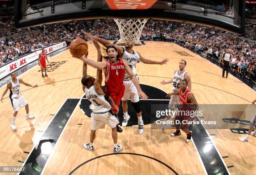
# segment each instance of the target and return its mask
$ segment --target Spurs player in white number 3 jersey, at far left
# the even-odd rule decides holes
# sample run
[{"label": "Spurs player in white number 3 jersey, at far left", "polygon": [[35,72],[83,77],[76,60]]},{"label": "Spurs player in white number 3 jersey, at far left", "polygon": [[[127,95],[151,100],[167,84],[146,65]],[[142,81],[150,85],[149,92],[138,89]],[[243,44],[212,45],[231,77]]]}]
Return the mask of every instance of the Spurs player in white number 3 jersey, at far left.
[{"label": "Spurs player in white number 3 jersey, at far left", "polygon": [[16,73],[12,72],[11,74],[12,79],[7,83],[7,87],[5,89],[5,91],[3,92],[3,95],[1,97],[1,102],[3,102],[3,97],[5,96],[5,94],[7,93],[8,90],[10,90],[10,100],[14,109],[14,113],[13,113],[13,119],[12,119],[12,123],[11,123],[11,128],[13,131],[17,131],[16,127],[15,127],[15,119],[17,117],[18,114],[18,110],[19,107],[24,107],[26,109],[26,119],[33,119],[34,117],[32,115],[29,115],[29,107],[28,107],[28,102],[25,100],[25,98],[20,95],[20,83],[22,83],[23,85],[26,86],[30,86],[30,87],[38,87],[38,85],[31,85],[27,82],[24,82],[22,79],[18,79],[16,78]]}]

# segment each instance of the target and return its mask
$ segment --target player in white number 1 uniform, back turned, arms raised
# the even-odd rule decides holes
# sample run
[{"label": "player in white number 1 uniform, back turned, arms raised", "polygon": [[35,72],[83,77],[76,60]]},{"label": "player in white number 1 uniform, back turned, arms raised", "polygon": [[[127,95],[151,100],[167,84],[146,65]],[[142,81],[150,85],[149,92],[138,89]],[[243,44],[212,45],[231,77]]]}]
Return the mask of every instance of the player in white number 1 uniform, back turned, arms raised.
[{"label": "player in white number 1 uniform, back turned, arms raised", "polygon": [[[97,62],[102,61],[102,56],[100,52],[100,45],[96,40],[93,41],[95,47],[97,48]],[[88,53],[87,53],[88,55]],[[85,57],[87,57],[85,55]],[[83,63],[83,77],[82,77],[82,88],[88,100],[92,103],[90,105],[91,113],[91,133],[90,133],[90,143],[84,144],[84,148],[90,151],[94,151],[93,141],[96,137],[96,130],[104,128],[107,124],[112,129],[112,138],[114,141],[114,153],[118,153],[122,150],[122,145],[117,144],[118,134],[117,125],[119,123],[118,118],[113,115],[110,103],[105,100],[104,92],[102,90],[102,70],[97,70],[97,77],[91,77],[87,75],[87,64]],[[112,100],[111,97],[109,100]],[[113,102],[113,101],[111,101]],[[113,102],[114,103],[114,102]]]}]

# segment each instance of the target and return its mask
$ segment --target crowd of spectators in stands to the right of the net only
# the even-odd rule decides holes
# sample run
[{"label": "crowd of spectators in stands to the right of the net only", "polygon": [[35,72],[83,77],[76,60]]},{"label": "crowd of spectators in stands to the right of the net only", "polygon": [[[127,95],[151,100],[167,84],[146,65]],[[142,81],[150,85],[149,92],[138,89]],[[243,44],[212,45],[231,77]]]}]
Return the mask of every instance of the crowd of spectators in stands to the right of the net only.
[{"label": "crowd of spectators in stands to the right of the net only", "polygon": [[[203,57],[210,57],[222,63],[223,53],[230,50],[231,71],[248,79],[255,80],[256,43],[236,35],[225,35],[221,30],[200,25],[151,20],[143,29],[142,40],[175,42]],[[157,29],[157,30],[154,30]],[[256,40],[255,23],[246,21],[245,30],[252,31],[250,39]]]}]

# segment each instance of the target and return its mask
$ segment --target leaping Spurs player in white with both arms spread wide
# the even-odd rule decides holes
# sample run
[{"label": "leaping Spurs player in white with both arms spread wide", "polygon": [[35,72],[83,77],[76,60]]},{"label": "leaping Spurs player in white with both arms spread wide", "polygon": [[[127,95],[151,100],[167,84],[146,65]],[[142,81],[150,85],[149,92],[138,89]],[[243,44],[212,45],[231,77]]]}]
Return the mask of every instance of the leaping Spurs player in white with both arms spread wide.
[{"label": "leaping Spurs player in white with both arms spread wide", "polygon": [[[86,37],[88,37],[90,40],[97,40],[100,42],[102,45],[105,47],[107,45],[112,45],[111,42],[108,40],[104,40],[100,37],[92,36],[86,32],[83,32]],[[121,47],[119,45],[115,45],[115,47],[118,50],[118,55],[125,59],[128,62],[128,65],[131,67],[132,72],[134,75],[136,75],[136,64],[137,62],[143,62],[145,64],[159,64],[163,65],[168,62],[168,59],[164,59],[161,61],[154,61],[154,60],[149,60],[141,56],[139,52],[136,52],[133,50],[134,42],[132,40],[126,40],[125,41],[125,47]],[[136,75],[138,78],[138,76]],[[138,133],[142,134],[143,133],[143,120],[142,120],[142,115],[141,115],[141,107],[139,104],[139,96],[138,96],[138,91],[129,78],[127,74],[125,74],[124,78],[124,85],[125,85],[125,92],[122,98],[122,106],[123,106],[123,123],[122,126],[125,127],[128,124],[128,120],[130,119],[130,116],[128,115],[128,105],[127,105],[127,100],[129,97],[131,97],[131,102],[133,105],[133,108],[135,109],[138,117]]]}]

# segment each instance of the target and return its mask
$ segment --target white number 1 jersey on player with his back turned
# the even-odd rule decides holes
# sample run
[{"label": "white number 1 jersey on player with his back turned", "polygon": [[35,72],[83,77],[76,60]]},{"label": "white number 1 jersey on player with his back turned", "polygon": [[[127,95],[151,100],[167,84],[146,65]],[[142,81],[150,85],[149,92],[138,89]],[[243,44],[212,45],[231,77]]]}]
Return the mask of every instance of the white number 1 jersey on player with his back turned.
[{"label": "white number 1 jersey on player with his back turned", "polygon": [[89,89],[85,87],[84,91],[87,99],[92,103],[90,105],[90,109],[93,113],[102,114],[108,112],[111,109],[109,102],[105,100],[104,94],[98,95],[94,85],[92,85]]}]

